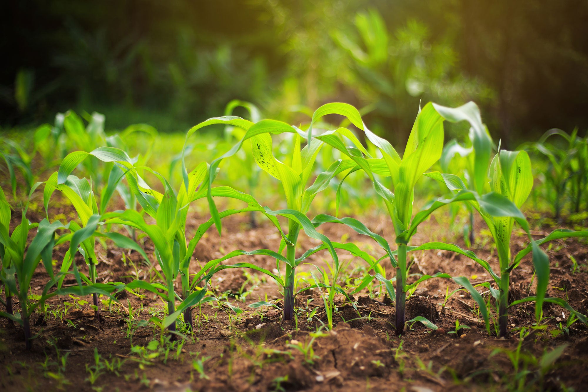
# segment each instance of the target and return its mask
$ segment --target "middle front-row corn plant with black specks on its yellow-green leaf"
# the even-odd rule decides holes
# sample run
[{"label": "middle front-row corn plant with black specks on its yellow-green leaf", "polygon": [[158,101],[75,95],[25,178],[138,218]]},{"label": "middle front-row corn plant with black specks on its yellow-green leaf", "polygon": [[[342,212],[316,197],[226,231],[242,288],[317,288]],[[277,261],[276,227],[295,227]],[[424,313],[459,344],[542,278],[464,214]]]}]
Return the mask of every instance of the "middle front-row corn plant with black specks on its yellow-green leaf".
[{"label": "middle front-row corn plant with black specks on its yellow-green leaf", "polygon": [[[337,108],[333,109],[331,107],[329,109],[328,107],[325,110],[325,108],[322,107],[315,112],[313,118],[318,119],[323,115],[330,113],[345,115],[345,111],[340,112],[340,110],[338,111]],[[305,260],[305,258],[308,257],[310,254],[318,251],[318,249],[324,245],[325,247],[323,247],[322,249],[327,248],[329,250],[333,258],[333,263],[335,264],[335,270],[338,270],[339,259],[336,254],[335,248],[342,248],[352,253],[355,252],[356,247],[352,247],[352,244],[338,244],[335,242],[331,242],[329,238],[327,238],[325,235],[317,232],[312,222],[310,222],[310,220],[305,215],[305,213],[308,212],[310,204],[315,198],[315,195],[318,194],[318,192],[324,190],[328,186],[329,181],[333,177],[335,177],[335,175],[338,175],[343,171],[347,171],[353,166],[355,166],[355,162],[353,162],[352,160],[336,160],[335,162],[329,165],[326,171],[323,171],[320,174],[318,174],[315,181],[311,185],[308,185],[310,175],[312,174],[313,165],[316,160],[316,156],[318,155],[320,148],[322,148],[322,146],[325,144],[324,142],[315,139],[313,141],[309,141],[305,147],[301,148],[302,138],[306,137],[307,134],[304,134],[300,129],[296,127],[292,127],[288,124],[285,124],[284,122],[270,119],[264,119],[253,124],[253,122],[233,116],[211,118],[205,122],[202,122],[199,125],[196,125],[196,127],[193,127],[186,135],[186,141],[193,134],[193,132],[197,131],[202,127],[205,127],[206,125],[212,124],[230,125],[233,127],[242,128],[245,131],[243,138],[240,139],[238,144],[234,145],[233,148],[231,148],[228,152],[214,160],[211,163],[211,166],[209,167],[207,197],[211,209],[212,220],[218,228],[219,233],[221,227],[220,215],[218,210],[216,209],[216,204],[212,199],[212,181],[216,177],[216,170],[220,162],[224,158],[232,157],[232,155],[235,155],[240,150],[240,148],[242,148],[243,144],[246,141],[250,141],[252,145],[253,158],[255,159],[256,163],[259,165],[260,168],[262,168],[262,170],[268,172],[270,175],[272,175],[272,177],[276,178],[282,183],[282,187],[285,193],[285,201],[287,205],[287,208],[285,210],[272,211],[269,208],[264,207],[262,211],[265,211],[268,215],[281,215],[282,217],[286,217],[288,219],[288,235],[285,238],[283,237],[283,241],[280,244],[278,252],[272,250],[256,250],[250,252],[236,250],[229,253],[225,257],[219,259],[218,263],[220,263],[220,261],[227,260],[228,258],[243,254],[265,254],[275,257],[278,263],[278,271],[279,263],[284,263],[285,276],[283,279],[282,277],[273,274],[270,271],[265,270],[263,268],[256,267],[255,269],[270,275],[280,285],[282,285],[282,287],[284,288],[283,318],[284,320],[292,320],[292,318],[294,317],[295,269],[299,265],[299,263],[301,263],[302,260]],[[272,151],[273,144],[271,135],[278,135],[283,133],[294,134],[292,157],[290,158],[289,163],[283,163],[276,159]],[[339,128],[336,131],[330,131],[329,134],[336,138],[339,141],[340,145],[342,145],[341,138],[343,136],[351,137],[353,138],[358,148],[363,149],[360,142],[355,138],[355,136],[353,136],[353,134],[348,129]],[[310,133],[308,135],[310,135]],[[183,164],[183,175],[186,178],[187,172],[185,170],[185,164]],[[309,237],[322,241],[323,245],[313,248],[312,250],[306,251],[302,257],[296,258],[296,246],[298,244],[298,235],[300,233],[300,230],[304,230],[306,235],[309,235]],[[372,232],[369,233],[373,234]],[[282,255],[283,250],[286,251],[285,256]],[[228,268],[226,266],[223,267]]]}]

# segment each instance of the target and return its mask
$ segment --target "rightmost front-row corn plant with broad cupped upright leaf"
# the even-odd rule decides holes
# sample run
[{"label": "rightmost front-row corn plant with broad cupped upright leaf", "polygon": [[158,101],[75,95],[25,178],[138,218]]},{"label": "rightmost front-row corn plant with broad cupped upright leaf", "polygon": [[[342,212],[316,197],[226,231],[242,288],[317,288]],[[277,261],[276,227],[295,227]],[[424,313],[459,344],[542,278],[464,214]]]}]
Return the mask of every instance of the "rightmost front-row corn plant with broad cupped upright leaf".
[{"label": "rightmost front-row corn plant with broad cupped upright leaf", "polygon": [[[465,117],[458,115],[458,109],[445,108],[436,106],[437,110],[450,121],[466,120],[470,121],[472,127],[480,127],[480,124],[476,124],[472,121],[474,118],[479,117]],[[477,108],[476,108],[477,111]],[[426,250],[426,249],[439,249],[454,251],[476,261],[482,267],[484,267],[492,276],[495,281],[498,290],[490,287],[490,284],[486,283],[489,287],[490,292],[496,298],[497,303],[497,318],[498,318],[498,331],[501,337],[507,333],[507,308],[508,293],[510,284],[510,273],[516,268],[522,258],[531,253],[533,254],[533,265],[537,277],[537,289],[536,295],[533,297],[524,298],[524,300],[517,301],[535,301],[536,302],[536,319],[537,322],[542,317],[542,305],[543,301],[552,303],[558,303],[566,308],[569,305],[561,300],[560,298],[544,298],[547,290],[547,284],[549,283],[549,259],[547,255],[543,253],[539,245],[554,240],[556,238],[567,238],[567,237],[586,237],[588,231],[572,231],[572,230],[555,230],[547,237],[541,238],[540,240],[533,240],[529,230],[529,224],[526,218],[520,212],[519,208],[529,197],[530,191],[533,187],[533,175],[531,171],[531,162],[529,155],[525,151],[499,151],[493,158],[490,164],[490,174],[483,175],[480,171],[479,175],[483,181],[489,181],[491,192],[480,196],[473,190],[467,190],[466,185],[460,180],[459,177],[452,174],[440,174],[439,172],[433,172],[427,174],[429,177],[435,178],[437,181],[443,182],[447,187],[456,192],[453,199],[461,199],[469,203],[474,208],[483,220],[486,222],[492,237],[494,239],[497,254],[499,258],[499,273],[495,273],[490,267],[489,263],[480,260],[472,251],[465,251],[454,244],[443,244],[442,242],[428,242],[410,250]],[[462,198],[460,195],[470,195],[469,197]],[[436,201],[430,208],[435,207],[435,204],[443,204],[445,201]],[[513,231],[513,225],[520,225],[520,227],[526,232],[529,237],[529,245],[524,248],[519,254],[513,257],[510,251],[510,237]],[[513,303],[513,304],[516,304]],[[480,304],[480,310],[482,311],[483,317],[486,321],[486,327],[489,328],[488,313],[485,304]],[[513,304],[510,304],[511,306]],[[570,310],[573,311],[573,310]],[[573,311],[576,313],[575,311]],[[584,321],[582,315],[578,316],[580,320]],[[584,321],[585,322],[585,321]]]}]

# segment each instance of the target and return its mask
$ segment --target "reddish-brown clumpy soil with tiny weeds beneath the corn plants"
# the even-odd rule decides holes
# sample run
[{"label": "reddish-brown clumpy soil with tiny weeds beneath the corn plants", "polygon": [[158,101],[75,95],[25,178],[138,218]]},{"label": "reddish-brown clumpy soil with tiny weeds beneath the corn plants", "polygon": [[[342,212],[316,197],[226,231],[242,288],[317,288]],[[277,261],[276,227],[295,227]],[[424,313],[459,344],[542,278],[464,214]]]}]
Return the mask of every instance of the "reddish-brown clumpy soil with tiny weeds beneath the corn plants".
[{"label": "reddish-brown clumpy soil with tiny weeds beneath the corn plants", "polygon": [[[71,211],[65,208],[58,213],[68,216]],[[31,221],[42,217],[35,211],[29,214]],[[13,215],[14,224],[19,219],[18,214]],[[189,231],[193,232],[206,219],[191,218]],[[392,228],[386,219],[364,217],[362,221],[392,243]],[[193,272],[198,271],[199,265],[234,249],[278,250],[280,237],[275,227],[261,219],[258,222],[258,227],[251,228],[245,215],[226,218],[222,237],[211,228],[196,247]],[[412,243],[449,241],[466,248],[462,238],[442,227],[446,227],[446,222],[432,218],[419,228]],[[536,229],[533,234],[537,238],[552,230]],[[368,237],[342,225],[325,224],[319,230],[333,241],[353,241],[375,257],[383,255]],[[492,241],[482,226],[476,232],[478,237],[472,250],[497,271]],[[514,252],[526,245],[524,236],[518,233],[513,234],[512,241]],[[145,238],[139,238],[139,242],[153,257],[151,242]],[[299,254],[316,245],[318,242],[301,235]],[[586,241],[557,240],[544,248],[551,265],[547,295],[565,298],[574,309],[588,313]],[[65,251],[65,246],[57,248],[54,259],[62,260]],[[96,253],[101,261],[101,282],[156,280],[159,267],[146,265],[135,252],[97,241]],[[437,272],[463,275],[474,284],[491,279],[480,265],[449,251],[423,251],[412,256],[409,281]],[[265,256],[241,256],[233,261],[248,261],[269,270],[276,267],[275,259]],[[320,252],[306,261],[309,264],[301,264],[297,270],[302,279],[299,285],[313,284],[310,273],[316,272],[314,265],[326,267],[330,258]],[[346,265],[347,273],[339,283],[350,292],[366,270],[345,252],[340,253],[340,261]],[[76,262],[84,271],[83,259]],[[390,262],[384,261],[383,266],[386,277],[392,278]],[[58,267],[59,263],[55,268]],[[32,292],[40,293],[46,281],[46,274],[39,267]],[[510,300],[532,295],[535,284],[533,265],[527,256],[512,273]],[[172,343],[166,341],[165,332],[147,322],[153,316],[163,316],[164,304],[155,294],[123,292],[117,297],[118,303],[103,297],[102,322],[94,320],[93,310],[84,302],[91,302],[91,297],[54,297],[48,301],[45,315],[32,316],[35,339],[30,352],[24,350],[21,327],[0,318],[0,390],[427,392],[573,387],[579,391],[588,383],[588,328],[576,322],[566,331],[569,311],[546,303],[540,328],[520,339],[520,328],[532,328],[536,322],[534,303],[516,305],[509,310],[509,337],[499,339],[493,329],[492,334],[487,333],[467,291],[457,291],[446,300],[446,293],[456,288],[459,286],[447,279],[419,284],[407,301],[406,320],[422,316],[439,329],[431,330],[416,322],[407,324],[405,333],[396,337],[395,310],[383,285],[375,284],[353,294],[353,304],[337,295],[333,329],[329,331],[322,327],[329,320],[317,288],[296,296],[296,320],[282,321],[275,308],[248,307],[266,298],[281,304],[280,288],[271,278],[251,270],[223,270],[212,281],[212,289],[223,301],[196,308],[196,331]],[[492,301],[489,291],[481,293]],[[228,303],[242,312],[236,313]],[[466,327],[452,333],[456,320]],[[553,354],[550,362],[549,354],[554,350],[563,351],[559,356]],[[516,361],[513,355],[517,356]]]}]

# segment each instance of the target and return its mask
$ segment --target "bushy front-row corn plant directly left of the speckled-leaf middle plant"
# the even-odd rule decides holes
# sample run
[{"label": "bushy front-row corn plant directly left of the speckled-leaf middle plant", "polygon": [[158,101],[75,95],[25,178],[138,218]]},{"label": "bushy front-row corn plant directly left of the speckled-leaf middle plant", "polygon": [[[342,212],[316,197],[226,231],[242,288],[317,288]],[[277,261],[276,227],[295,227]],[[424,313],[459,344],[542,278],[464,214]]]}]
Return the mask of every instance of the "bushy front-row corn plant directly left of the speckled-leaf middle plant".
[{"label": "bushy front-row corn plant directly left of the speckled-leaf middle plant", "polygon": [[[189,267],[192,260],[192,254],[198,245],[202,235],[205,234],[206,230],[213,224],[212,220],[201,224],[193,238],[187,241],[186,238],[186,218],[188,217],[189,205],[199,198],[206,196],[207,189],[200,187],[200,185],[206,181],[208,175],[208,166],[206,163],[199,164],[192,172],[188,174],[188,185],[185,187],[183,184],[179,187],[178,192],[173,191],[169,182],[159,173],[152,171],[149,168],[143,167],[143,170],[151,172],[155,175],[163,185],[163,194],[152,190],[145,181],[142,180],[141,176],[137,172],[137,168],[133,166],[131,158],[118,148],[113,147],[100,147],[92,152],[77,151],[72,152],[64,159],[59,168],[57,182],[63,181],[56,185],[59,190],[68,192],[70,200],[76,201],[76,209],[82,211],[87,216],[89,213],[89,207],[84,205],[82,198],[76,198],[72,188],[68,186],[68,181],[71,181],[73,176],[69,173],[83,161],[88,155],[98,157],[99,160],[105,162],[114,162],[118,165],[119,169],[123,171],[123,175],[126,178],[129,189],[133,192],[136,200],[141,205],[146,214],[150,215],[154,220],[155,224],[148,224],[145,218],[135,210],[125,210],[119,212],[109,212],[102,215],[107,225],[111,224],[122,224],[126,227],[132,227],[137,230],[141,230],[148,235],[155,245],[155,257],[162,270],[162,277],[165,280],[162,283],[148,283],[141,280],[135,280],[125,285],[124,287],[119,286],[118,290],[126,288],[132,290],[135,288],[142,288],[144,290],[151,291],[157,295],[160,295],[163,300],[168,303],[168,317],[166,317],[164,324],[165,327],[169,327],[169,330],[176,331],[176,318],[180,313],[183,312],[186,323],[188,323],[193,329],[193,318],[192,318],[192,307],[196,304],[202,303],[201,301],[209,301],[213,298],[206,297],[205,290],[208,280],[215,273],[215,263],[207,263],[201,270],[193,275],[190,280]],[[60,180],[61,179],[61,180]],[[87,181],[86,181],[87,183]],[[116,186],[116,185],[115,185]],[[200,188],[199,188],[200,187]],[[199,188],[199,190],[198,190]],[[212,195],[215,197],[228,197],[239,201],[246,202],[248,205],[240,210],[226,210],[220,212],[222,218],[236,214],[238,212],[246,212],[252,210],[263,211],[263,208],[249,195],[242,194],[241,192],[235,191],[230,187],[215,187],[212,189]],[[89,200],[89,199],[88,199]],[[78,211],[78,212],[79,212]],[[279,226],[278,220],[274,216],[269,216],[270,220]],[[82,219],[82,222],[84,219]],[[102,233],[106,237],[112,240],[118,240],[122,242],[123,236],[116,233]],[[123,237],[123,238],[121,238]],[[126,238],[124,241],[128,244],[127,247],[132,247],[135,250],[141,251],[141,248],[136,245],[134,241]],[[91,253],[92,251],[89,250]],[[86,252],[87,253],[87,252]],[[149,260],[143,253],[143,257]],[[221,268],[222,269],[222,268]],[[178,276],[181,276],[181,295],[175,291],[175,281]],[[198,285],[203,285],[204,288],[199,288]],[[164,293],[161,293],[163,290]],[[176,308],[175,301],[179,298],[182,302]]]}]

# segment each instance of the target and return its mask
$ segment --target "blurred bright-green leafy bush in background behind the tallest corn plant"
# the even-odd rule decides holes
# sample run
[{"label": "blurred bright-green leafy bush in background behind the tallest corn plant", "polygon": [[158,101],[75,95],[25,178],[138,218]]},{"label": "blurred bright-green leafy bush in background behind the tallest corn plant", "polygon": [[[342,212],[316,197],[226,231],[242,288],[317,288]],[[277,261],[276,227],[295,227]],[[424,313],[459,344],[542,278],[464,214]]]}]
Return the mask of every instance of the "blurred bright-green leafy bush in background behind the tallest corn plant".
[{"label": "blurred bright-green leafy bush in background behind the tallest corn plant", "polygon": [[492,95],[480,82],[463,77],[457,55],[445,42],[430,39],[429,29],[410,19],[389,35],[375,9],[359,12],[353,31],[336,30],[333,39],[349,53],[353,79],[348,82],[370,104],[372,127],[405,144],[420,101],[460,105]]}]

